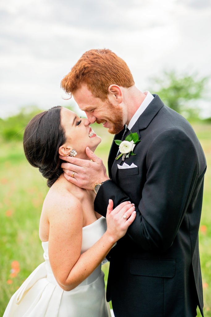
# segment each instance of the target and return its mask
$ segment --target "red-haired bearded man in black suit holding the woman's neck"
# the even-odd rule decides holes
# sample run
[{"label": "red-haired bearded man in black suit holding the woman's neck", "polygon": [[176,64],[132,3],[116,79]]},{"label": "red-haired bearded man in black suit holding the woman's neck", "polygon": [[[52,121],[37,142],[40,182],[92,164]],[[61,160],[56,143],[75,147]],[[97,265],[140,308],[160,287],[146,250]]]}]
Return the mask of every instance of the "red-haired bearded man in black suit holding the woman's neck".
[{"label": "red-haired bearded man in black suit holding the woman's neck", "polygon": [[192,127],[158,95],[138,90],[109,49],[84,53],[61,87],[90,123],[102,123],[116,140],[131,142],[130,131],[140,140],[124,161],[115,159],[121,152],[113,141],[109,177],[89,148],[92,161],[62,158],[65,177],[96,192],[95,210],[104,217],[110,198],[114,207],[135,204],[135,221],[109,253],[115,317],[192,317],[197,305],[203,316],[198,230],[206,160]]}]

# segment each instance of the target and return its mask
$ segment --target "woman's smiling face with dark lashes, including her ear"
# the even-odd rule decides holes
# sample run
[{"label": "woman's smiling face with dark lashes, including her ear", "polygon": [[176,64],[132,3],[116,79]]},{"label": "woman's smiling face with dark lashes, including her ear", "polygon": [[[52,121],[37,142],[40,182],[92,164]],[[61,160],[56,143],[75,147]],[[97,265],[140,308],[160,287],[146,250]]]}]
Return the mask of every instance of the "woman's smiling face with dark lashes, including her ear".
[{"label": "woman's smiling face with dark lashes, including her ear", "polygon": [[63,145],[64,155],[75,149],[77,157],[87,158],[87,146],[94,152],[101,138],[94,133],[88,119],[79,118],[67,108],[61,108],[61,125],[65,129],[66,142]]}]

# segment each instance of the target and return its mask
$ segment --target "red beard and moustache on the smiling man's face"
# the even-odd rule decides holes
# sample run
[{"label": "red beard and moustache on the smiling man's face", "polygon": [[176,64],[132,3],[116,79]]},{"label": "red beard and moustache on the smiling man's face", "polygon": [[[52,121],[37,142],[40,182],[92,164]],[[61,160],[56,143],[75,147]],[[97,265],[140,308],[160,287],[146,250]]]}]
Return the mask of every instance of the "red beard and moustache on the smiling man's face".
[{"label": "red beard and moustache on the smiling man's face", "polygon": [[[107,110],[109,115],[109,123],[112,124],[112,127],[108,129],[108,132],[111,134],[117,134],[122,129],[124,129],[123,123],[123,113],[120,106],[114,106],[109,100],[106,101]],[[96,120],[98,124],[104,122],[105,120]]]}]

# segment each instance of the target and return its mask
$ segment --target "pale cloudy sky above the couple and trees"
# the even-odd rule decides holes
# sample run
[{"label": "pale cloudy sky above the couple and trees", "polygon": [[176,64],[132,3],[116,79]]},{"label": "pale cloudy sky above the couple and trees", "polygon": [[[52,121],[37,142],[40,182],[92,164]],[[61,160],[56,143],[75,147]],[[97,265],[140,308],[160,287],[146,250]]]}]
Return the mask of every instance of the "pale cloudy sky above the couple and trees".
[{"label": "pale cloudy sky above the couple and trees", "polygon": [[69,104],[60,81],[89,49],[123,58],[141,91],[163,69],[211,75],[210,0],[1,0],[0,38],[0,117]]}]

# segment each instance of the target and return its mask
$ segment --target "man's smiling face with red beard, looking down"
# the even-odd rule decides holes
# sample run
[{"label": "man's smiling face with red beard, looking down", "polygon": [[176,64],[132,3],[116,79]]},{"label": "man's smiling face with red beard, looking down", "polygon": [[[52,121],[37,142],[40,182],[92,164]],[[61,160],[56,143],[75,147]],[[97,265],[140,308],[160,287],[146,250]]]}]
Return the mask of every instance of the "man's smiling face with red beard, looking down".
[{"label": "man's smiling face with red beard, looking down", "polygon": [[90,123],[102,123],[111,134],[117,134],[124,128],[122,107],[113,105],[108,99],[102,101],[95,97],[85,84],[74,92],[73,98],[85,111]]}]

